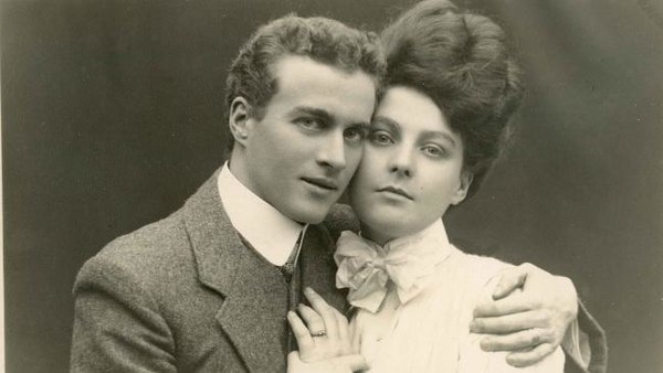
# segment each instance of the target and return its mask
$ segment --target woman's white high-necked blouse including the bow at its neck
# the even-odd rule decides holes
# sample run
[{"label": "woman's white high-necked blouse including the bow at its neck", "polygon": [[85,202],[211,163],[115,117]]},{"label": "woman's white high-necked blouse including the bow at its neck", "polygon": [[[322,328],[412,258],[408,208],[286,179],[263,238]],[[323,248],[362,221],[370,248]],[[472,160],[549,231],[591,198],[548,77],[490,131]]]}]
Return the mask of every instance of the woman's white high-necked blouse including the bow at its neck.
[{"label": "woman's white high-necked blouse including the bow at its neck", "polygon": [[560,348],[526,369],[508,365],[506,353],[481,350],[480,335],[470,332],[472,312],[508,265],[461,252],[441,221],[385,247],[344,232],[335,258],[337,286],[350,288],[356,307],[352,341],[372,373],[564,371]]}]

